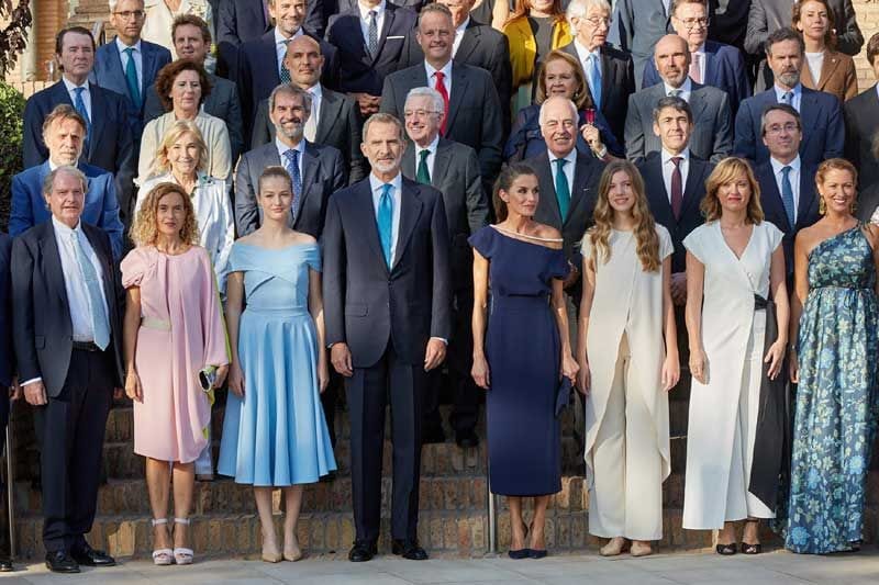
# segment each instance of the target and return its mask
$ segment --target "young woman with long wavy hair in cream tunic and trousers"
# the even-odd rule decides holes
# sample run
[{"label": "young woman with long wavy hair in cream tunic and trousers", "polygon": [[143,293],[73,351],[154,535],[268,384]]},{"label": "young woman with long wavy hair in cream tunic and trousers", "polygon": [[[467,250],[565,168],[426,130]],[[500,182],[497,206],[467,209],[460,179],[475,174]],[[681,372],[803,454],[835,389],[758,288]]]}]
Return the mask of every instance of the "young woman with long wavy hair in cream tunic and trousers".
[{"label": "young woman with long wavy hair in cream tunic and trousers", "polygon": [[680,376],[671,252],[650,215],[644,181],[627,160],[601,176],[596,225],[583,238],[577,359],[586,401],[589,532],[632,541],[633,556],[663,538],[663,481],[671,471],[668,396]]}]

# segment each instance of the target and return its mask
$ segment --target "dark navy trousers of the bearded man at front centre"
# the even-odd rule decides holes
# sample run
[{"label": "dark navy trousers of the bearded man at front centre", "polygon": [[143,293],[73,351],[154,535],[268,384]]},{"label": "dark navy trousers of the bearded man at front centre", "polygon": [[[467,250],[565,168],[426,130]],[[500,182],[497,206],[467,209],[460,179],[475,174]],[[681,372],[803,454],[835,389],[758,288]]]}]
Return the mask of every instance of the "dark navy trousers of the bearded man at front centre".
[{"label": "dark navy trousers of the bearded man at front centre", "polygon": [[354,375],[345,382],[351,415],[354,526],[358,541],[378,540],[385,408],[389,397],[393,442],[391,538],[415,540],[418,537],[424,383],[424,367],[401,361],[390,341],[375,365],[355,368]]}]

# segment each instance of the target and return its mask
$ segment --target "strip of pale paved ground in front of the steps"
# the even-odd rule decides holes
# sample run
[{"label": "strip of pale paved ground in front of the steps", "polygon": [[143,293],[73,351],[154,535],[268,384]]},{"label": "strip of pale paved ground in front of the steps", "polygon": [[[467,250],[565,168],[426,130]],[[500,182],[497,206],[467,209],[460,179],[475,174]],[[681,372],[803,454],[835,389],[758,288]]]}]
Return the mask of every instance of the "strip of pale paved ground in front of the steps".
[{"label": "strip of pale paved ground in front of the steps", "polygon": [[383,556],[361,564],[325,558],[279,564],[244,560],[208,560],[197,562],[189,567],[157,567],[145,561],[131,561],[118,567],[87,570],[71,576],[52,575],[43,565],[34,564],[18,573],[0,576],[0,583],[3,585],[12,583],[877,585],[879,550],[870,548],[858,554],[831,556],[794,555],[783,551],[752,558],[742,554],[721,558],[713,553],[677,553],[657,554],[637,560],[625,555],[609,560],[588,554],[549,556],[541,561],[486,558],[412,562]]}]

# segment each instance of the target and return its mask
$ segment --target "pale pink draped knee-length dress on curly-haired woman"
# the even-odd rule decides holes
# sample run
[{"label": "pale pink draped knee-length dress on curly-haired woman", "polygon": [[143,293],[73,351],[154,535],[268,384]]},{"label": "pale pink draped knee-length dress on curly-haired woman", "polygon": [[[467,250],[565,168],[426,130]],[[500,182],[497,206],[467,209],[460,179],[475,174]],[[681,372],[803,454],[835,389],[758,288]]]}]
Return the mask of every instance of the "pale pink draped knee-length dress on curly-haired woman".
[{"label": "pale pink draped knee-length dress on curly-haired woman", "polygon": [[177,256],[142,247],[121,269],[122,284],[141,290],[135,365],[143,402],[134,402],[134,452],[192,462],[208,443],[211,420],[198,372],[229,363],[211,258],[199,246]]}]

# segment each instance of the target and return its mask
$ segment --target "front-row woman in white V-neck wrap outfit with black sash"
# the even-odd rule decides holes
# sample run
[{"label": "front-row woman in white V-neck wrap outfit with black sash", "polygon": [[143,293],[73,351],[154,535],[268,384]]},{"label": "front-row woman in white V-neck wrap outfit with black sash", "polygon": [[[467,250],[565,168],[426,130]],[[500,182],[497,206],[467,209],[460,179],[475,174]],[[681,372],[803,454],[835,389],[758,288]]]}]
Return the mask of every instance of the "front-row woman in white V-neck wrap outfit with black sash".
[{"label": "front-row woman in white V-neck wrap outfit with black sash", "polygon": [[[693,378],[683,528],[720,529],[717,553],[734,554],[734,522],[747,520],[742,552],[756,554],[759,519],[775,517],[774,503],[752,493],[752,468],[760,387],[779,375],[788,339],[782,233],[764,222],[759,187],[744,159],[721,161],[705,187],[706,223],[683,240]],[[778,331],[767,344],[770,292]]]}]

